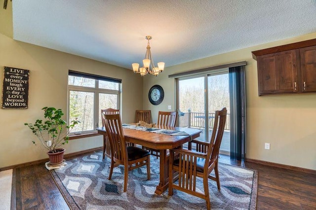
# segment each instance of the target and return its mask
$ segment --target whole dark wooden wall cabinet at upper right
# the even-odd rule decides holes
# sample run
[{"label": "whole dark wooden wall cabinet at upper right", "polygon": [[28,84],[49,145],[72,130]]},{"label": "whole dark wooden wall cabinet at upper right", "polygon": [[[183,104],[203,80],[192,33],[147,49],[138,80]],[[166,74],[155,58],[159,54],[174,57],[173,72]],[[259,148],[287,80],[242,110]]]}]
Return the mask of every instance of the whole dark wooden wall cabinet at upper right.
[{"label": "whole dark wooden wall cabinet at upper right", "polygon": [[316,39],[252,52],[259,96],[316,92]]}]

